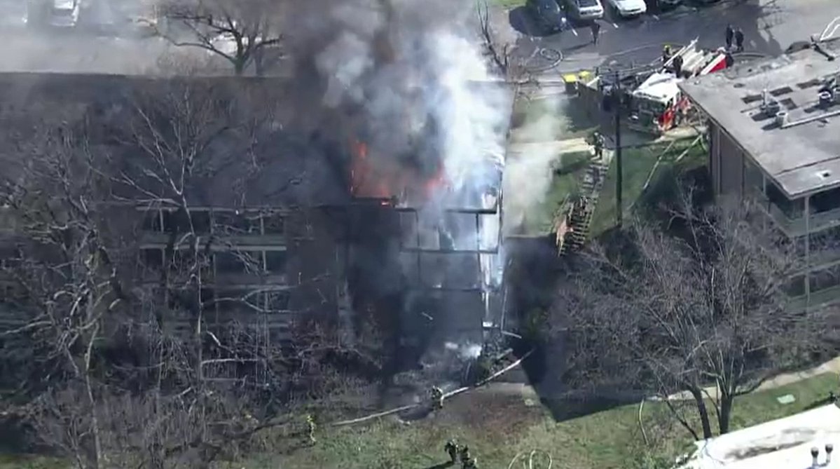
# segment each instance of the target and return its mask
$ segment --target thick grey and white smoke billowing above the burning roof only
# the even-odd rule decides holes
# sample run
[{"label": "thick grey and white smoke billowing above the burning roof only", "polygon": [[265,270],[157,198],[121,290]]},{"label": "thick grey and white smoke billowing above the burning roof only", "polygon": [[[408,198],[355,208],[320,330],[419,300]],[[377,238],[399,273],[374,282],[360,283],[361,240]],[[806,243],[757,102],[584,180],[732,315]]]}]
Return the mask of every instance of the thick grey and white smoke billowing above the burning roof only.
[{"label": "thick grey and white smoke billowing above the burning roof only", "polygon": [[[383,174],[444,177],[459,200],[501,185],[510,101],[492,79],[470,0],[310,0],[291,13],[291,55]],[[296,73],[305,86],[312,76]],[[313,105],[318,105],[312,103]],[[416,187],[415,187],[416,188]],[[394,194],[399,195],[399,194]],[[440,194],[436,194],[440,196]]]}]

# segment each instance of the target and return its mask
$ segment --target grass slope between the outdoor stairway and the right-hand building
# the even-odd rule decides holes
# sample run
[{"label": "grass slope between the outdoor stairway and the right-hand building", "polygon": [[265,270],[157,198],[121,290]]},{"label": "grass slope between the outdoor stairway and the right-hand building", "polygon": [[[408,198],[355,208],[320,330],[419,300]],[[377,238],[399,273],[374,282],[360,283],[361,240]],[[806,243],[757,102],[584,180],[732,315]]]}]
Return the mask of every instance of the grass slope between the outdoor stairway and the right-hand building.
[{"label": "grass slope between the outdoor stairway and the right-hand building", "polygon": [[[703,150],[699,143],[691,147],[679,163],[675,163],[675,159],[686,149],[689,149],[691,143],[695,140],[696,137],[691,137],[674,142],[674,145],[665,153],[659,166],[657,166],[648,189],[662,187],[663,184],[675,181],[675,178],[685,171],[706,164],[706,150]],[[622,205],[625,216],[631,213],[630,207],[659,203],[652,198],[646,198],[655,191],[644,191],[643,187],[659,156],[668,149],[670,143],[656,142],[637,148],[626,148],[622,151],[622,173],[624,176],[622,180]],[[616,159],[613,158],[610,169],[606,174],[601,197],[598,199],[598,206],[592,216],[590,234],[593,238],[611,229],[616,224],[616,171]]]}]

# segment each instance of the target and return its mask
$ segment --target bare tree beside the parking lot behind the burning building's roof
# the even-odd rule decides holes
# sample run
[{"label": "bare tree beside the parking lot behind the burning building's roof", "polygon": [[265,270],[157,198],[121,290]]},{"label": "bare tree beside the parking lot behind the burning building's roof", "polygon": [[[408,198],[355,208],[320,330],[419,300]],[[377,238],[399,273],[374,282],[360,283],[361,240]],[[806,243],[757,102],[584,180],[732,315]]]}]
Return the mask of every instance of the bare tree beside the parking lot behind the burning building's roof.
[{"label": "bare tree beside the parking lot behind the burning building's roof", "polygon": [[196,47],[222,57],[236,75],[243,75],[253,64],[255,74],[261,76],[281,59],[282,4],[272,0],[165,0],[160,15],[166,27],[156,28],[156,32],[173,45]]}]

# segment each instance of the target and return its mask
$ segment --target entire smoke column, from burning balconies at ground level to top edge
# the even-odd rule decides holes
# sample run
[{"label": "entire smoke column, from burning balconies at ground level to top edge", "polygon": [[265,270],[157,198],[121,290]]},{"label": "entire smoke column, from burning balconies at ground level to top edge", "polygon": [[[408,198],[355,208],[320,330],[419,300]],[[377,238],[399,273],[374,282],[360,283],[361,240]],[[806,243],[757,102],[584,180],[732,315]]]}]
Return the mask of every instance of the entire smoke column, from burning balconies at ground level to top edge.
[{"label": "entire smoke column, from burning balconies at ground level to top edge", "polygon": [[[501,251],[501,208],[481,216],[480,234],[474,215],[443,210],[501,205],[511,96],[488,70],[475,3],[307,0],[293,9],[286,30],[293,82],[301,89],[296,94],[307,97],[313,111],[341,116],[333,139],[363,144],[356,157],[364,156],[365,176],[375,180],[366,187],[375,193],[364,195],[395,196],[421,208],[414,247]],[[447,300],[433,324],[447,335],[446,348],[457,344],[460,354],[475,355],[480,339],[457,331],[480,331],[478,318],[486,319],[491,290],[501,284],[501,252],[481,254],[480,261],[475,254],[446,256],[431,272],[424,266],[423,276],[432,287],[461,282],[479,299],[470,303],[475,309]],[[404,276],[418,270],[400,257]],[[405,301],[404,314],[412,318],[412,305],[423,300],[412,292]],[[466,319],[446,322],[455,316]]]}]

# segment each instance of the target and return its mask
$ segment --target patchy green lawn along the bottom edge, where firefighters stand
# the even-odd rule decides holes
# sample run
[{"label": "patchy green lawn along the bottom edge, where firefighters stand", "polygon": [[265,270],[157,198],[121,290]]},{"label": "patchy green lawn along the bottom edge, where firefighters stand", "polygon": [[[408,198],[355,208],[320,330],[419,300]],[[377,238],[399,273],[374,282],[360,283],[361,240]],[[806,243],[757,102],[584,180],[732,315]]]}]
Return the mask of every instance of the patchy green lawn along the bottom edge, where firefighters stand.
[{"label": "patchy green lawn along the bottom edge, where firefighters stand", "polygon": [[[738,398],[732,429],[759,424],[810,408],[836,389],[837,377],[820,375],[762,393]],[[776,398],[792,394],[796,400],[780,404]],[[664,406],[647,403],[643,422],[648,435],[664,415]],[[476,391],[454,398],[444,411],[411,424],[381,419],[340,429],[323,425],[318,444],[291,454],[254,455],[225,469],[427,469],[446,461],[443,445],[452,437],[470,445],[480,467],[506,469],[521,451],[548,451],[554,467],[575,469],[633,469],[645,453],[638,428],[638,404],[555,422],[541,407],[526,407],[521,396]],[[655,451],[678,453],[690,448],[690,438],[677,426],[661,432]],[[671,455],[669,455],[671,456]],[[40,464],[39,464],[40,461]],[[29,464],[29,465],[28,465]],[[534,464],[533,469],[545,466]],[[0,469],[63,469],[45,460],[0,459]]]}]

